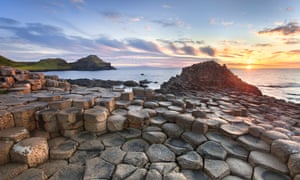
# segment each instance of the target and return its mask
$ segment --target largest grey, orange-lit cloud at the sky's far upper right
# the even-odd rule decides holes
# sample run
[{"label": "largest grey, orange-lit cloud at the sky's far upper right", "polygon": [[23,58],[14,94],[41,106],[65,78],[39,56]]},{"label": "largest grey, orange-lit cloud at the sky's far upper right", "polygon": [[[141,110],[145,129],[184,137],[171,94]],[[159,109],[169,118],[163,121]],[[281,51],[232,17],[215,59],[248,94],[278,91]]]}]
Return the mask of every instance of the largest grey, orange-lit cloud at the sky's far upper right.
[{"label": "largest grey, orange-lit cloud at the sky's far upper right", "polygon": [[300,34],[300,26],[297,22],[289,22],[285,25],[259,31],[258,34],[281,34],[284,36],[296,35]]}]

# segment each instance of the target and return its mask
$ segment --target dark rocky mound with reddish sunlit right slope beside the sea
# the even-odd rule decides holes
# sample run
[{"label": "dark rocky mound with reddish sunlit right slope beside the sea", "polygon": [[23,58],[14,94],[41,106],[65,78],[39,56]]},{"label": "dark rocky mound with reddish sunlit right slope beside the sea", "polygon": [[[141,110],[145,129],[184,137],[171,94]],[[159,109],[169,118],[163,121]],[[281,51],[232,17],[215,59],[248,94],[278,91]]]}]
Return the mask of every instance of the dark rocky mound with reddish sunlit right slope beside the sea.
[{"label": "dark rocky mound with reddish sunlit right slope beside the sea", "polygon": [[262,95],[257,87],[242,81],[225,65],[221,66],[215,61],[207,61],[183,68],[179,76],[172,77],[168,82],[162,84],[161,90],[163,92],[234,90]]}]

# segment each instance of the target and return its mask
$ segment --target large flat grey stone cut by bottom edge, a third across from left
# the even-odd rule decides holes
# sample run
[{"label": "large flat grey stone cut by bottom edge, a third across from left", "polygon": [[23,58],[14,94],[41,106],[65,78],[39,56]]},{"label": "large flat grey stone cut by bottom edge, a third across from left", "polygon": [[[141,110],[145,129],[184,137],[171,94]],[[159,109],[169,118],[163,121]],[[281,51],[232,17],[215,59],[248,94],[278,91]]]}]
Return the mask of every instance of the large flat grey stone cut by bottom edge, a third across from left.
[{"label": "large flat grey stone cut by bottom edge, a third across from left", "polygon": [[105,160],[96,157],[86,161],[84,180],[87,179],[110,179],[115,166]]}]

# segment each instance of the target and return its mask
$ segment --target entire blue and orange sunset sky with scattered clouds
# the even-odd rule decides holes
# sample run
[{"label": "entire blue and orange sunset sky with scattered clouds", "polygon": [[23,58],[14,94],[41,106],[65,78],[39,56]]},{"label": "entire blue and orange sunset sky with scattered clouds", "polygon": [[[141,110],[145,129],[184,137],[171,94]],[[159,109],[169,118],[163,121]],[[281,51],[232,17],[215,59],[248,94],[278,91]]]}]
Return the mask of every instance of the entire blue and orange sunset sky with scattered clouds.
[{"label": "entire blue and orange sunset sky with scattered clouds", "polygon": [[0,55],[300,68],[299,0],[1,0]]}]

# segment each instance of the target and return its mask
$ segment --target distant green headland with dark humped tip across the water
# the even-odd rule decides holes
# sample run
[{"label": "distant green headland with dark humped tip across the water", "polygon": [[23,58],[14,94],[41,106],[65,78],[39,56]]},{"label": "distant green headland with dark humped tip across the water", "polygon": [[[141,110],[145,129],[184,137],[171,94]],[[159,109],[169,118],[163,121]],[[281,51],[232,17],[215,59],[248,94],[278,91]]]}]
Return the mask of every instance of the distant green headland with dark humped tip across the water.
[{"label": "distant green headland with dark humped tip across the water", "polygon": [[61,58],[41,59],[38,62],[17,62],[0,55],[0,66],[11,66],[29,71],[97,71],[116,69],[111,66],[111,63],[103,61],[96,55],[80,58],[73,63],[68,63]]}]

